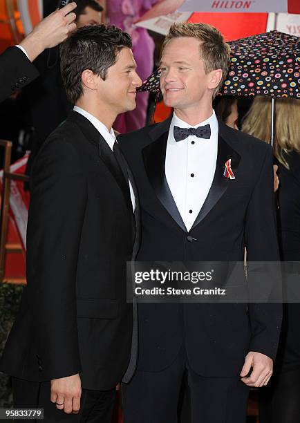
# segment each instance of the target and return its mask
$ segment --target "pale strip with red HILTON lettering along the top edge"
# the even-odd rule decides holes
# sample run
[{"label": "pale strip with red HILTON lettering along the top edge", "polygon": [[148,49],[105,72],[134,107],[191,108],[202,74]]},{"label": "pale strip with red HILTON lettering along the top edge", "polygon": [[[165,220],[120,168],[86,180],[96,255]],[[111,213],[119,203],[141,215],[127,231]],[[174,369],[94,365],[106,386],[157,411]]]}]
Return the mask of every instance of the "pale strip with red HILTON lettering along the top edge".
[{"label": "pale strip with red HILTON lettering along the top edge", "polygon": [[300,13],[299,0],[182,0],[182,12]]}]

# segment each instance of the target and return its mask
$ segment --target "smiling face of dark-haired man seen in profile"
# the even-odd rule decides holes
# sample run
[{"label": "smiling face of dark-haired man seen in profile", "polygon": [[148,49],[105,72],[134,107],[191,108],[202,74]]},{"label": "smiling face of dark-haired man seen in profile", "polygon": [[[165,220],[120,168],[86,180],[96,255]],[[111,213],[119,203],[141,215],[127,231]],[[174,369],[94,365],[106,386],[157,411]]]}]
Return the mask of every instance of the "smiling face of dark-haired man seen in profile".
[{"label": "smiling face of dark-haired man seen in profile", "polygon": [[136,63],[130,48],[122,48],[117,62],[111,66],[103,80],[98,77],[97,93],[102,103],[118,115],[135,109],[136,88],[142,80],[136,73]]}]

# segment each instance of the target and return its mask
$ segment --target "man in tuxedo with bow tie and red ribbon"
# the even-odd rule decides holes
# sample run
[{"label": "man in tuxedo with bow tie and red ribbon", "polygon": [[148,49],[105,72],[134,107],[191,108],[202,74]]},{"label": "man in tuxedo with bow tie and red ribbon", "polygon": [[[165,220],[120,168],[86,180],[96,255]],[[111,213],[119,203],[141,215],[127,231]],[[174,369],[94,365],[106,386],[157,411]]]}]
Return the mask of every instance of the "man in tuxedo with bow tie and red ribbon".
[{"label": "man in tuxedo with bow tie and red ribbon", "polygon": [[[140,192],[138,261],[243,262],[245,247],[250,261],[279,259],[272,149],[212,109],[228,66],[216,28],[171,26],[160,88],[174,113],[120,136]],[[126,423],[176,423],[185,377],[192,423],[245,422],[248,387],[272,375],[281,306],[140,303],[138,324],[123,384]]]}]

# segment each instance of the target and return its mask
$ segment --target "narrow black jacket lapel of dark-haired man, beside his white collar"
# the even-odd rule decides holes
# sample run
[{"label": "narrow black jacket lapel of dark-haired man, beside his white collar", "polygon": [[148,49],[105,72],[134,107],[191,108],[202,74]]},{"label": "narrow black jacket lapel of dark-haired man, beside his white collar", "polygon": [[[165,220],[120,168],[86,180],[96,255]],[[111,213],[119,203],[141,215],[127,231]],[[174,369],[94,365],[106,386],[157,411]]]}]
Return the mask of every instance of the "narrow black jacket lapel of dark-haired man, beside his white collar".
[{"label": "narrow black jacket lapel of dark-haired man, beside his white collar", "polygon": [[118,169],[115,167],[115,158],[113,157],[113,151],[111,151],[107,142],[104,140],[102,135],[100,135],[100,132],[97,131],[95,126],[88,119],[86,119],[83,115],[75,111],[71,111],[71,113],[68,115],[68,120],[71,120],[72,122],[77,124],[77,126],[79,126],[79,129],[81,129],[82,133],[84,134],[85,138],[89,142],[94,144],[95,147],[97,147],[97,151],[102,162],[109,170],[115,181],[118,183],[118,186],[120,187],[122,194],[126,199],[126,202],[128,203],[128,201],[130,201],[131,205],[129,187],[126,185],[124,177],[122,176],[122,171],[118,171]]}]

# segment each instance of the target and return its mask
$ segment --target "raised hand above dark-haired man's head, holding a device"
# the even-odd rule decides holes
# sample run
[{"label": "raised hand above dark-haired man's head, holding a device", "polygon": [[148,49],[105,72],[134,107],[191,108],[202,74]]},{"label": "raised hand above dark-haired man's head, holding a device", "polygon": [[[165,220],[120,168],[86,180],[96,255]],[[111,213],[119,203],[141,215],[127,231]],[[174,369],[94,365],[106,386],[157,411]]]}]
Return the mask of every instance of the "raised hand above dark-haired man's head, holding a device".
[{"label": "raised hand above dark-haired man's head, holding a device", "polygon": [[76,8],[75,2],[68,3],[64,8],[57,9],[51,15],[40,21],[34,30],[21,41],[22,46],[29,56],[34,60],[41,54],[45,48],[52,48],[62,43],[68,35],[76,30],[77,26],[74,22],[75,13],[72,12]]}]

